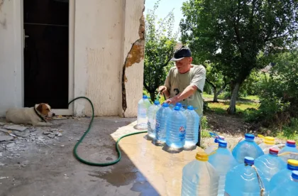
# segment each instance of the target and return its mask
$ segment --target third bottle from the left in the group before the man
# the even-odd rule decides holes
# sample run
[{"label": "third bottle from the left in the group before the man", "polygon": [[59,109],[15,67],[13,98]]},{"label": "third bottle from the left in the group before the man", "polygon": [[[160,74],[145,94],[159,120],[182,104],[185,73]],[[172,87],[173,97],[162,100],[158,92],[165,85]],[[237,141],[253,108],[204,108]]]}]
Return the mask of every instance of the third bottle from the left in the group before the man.
[{"label": "third bottle from the left in the group before the man", "polygon": [[156,112],[155,140],[158,142],[165,143],[166,121],[171,112],[167,103],[162,104],[162,107]]}]

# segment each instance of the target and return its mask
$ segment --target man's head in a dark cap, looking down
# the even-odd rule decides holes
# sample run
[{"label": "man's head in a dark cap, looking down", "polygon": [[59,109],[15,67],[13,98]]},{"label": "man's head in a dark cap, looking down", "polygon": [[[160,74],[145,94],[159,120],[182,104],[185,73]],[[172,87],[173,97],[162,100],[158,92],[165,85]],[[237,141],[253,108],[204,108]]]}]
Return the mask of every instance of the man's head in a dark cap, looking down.
[{"label": "man's head in a dark cap, looking down", "polygon": [[192,52],[183,45],[180,49],[176,50],[171,61],[175,61],[178,72],[182,74],[189,72],[192,66]]}]

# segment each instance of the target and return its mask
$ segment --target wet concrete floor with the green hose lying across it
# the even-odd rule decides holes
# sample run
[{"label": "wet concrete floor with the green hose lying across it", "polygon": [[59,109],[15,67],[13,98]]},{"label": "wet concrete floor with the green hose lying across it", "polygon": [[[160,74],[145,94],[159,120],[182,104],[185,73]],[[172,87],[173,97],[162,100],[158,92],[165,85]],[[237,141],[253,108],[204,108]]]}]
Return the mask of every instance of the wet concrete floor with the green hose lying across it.
[{"label": "wet concrete floor with the green hose lying across it", "polygon": [[[121,140],[119,163],[107,167],[85,165],[72,151],[89,120],[53,121],[53,127],[61,129],[63,136],[44,144],[26,142],[26,151],[18,158],[6,158],[6,149],[0,150],[0,179],[6,177],[0,180],[0,195],[180,195],[182,168],[194,160],[200,148],[168,153],[148,141],[146,134],[138,134]],[[78,148],[79,156],[101,163],[116,160],[115,141],[138,131],[133,129],[135,125],[136,119],[95,118],[92,130]]]}]

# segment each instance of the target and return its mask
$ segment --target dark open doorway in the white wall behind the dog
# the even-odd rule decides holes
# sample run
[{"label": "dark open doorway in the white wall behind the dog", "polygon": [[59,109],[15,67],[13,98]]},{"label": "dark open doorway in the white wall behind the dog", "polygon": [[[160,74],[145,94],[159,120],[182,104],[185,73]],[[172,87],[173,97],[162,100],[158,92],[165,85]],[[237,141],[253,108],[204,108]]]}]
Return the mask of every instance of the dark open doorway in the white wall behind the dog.
[{"label": "dark open doorway in the white wall behind the dog", "polygon": [[67,109],[68,0],[23,0],[24,105]]}]

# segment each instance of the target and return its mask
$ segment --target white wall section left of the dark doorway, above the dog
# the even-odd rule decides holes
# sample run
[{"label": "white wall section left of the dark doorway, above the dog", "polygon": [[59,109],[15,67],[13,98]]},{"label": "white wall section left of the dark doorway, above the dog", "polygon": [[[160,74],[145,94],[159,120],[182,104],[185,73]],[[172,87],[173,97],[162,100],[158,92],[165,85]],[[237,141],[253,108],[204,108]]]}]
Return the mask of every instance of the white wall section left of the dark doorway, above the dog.
[{"label": "white wall section left of the dark doorway, above the dog", "polygon": [[23,106],[23,51],[20,0],[0,0],[0,116]]}]

